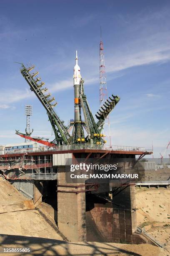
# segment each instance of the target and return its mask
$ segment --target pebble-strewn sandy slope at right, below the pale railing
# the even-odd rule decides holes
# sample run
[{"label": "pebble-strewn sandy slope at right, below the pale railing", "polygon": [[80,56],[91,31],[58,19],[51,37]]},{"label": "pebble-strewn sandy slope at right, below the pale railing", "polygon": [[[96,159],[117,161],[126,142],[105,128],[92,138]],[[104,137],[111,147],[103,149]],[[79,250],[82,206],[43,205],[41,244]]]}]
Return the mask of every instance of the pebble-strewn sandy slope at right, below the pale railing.
[{"label": "pebble-strewn sandy slope at right, below the pale railing", "polygon": [[[137,225],[165,223],[147,231],[170,251],[170,189],[136,189]],[[159,224],[158,224],[159,225]],[[167,254],[169,255],[169,254]]]}]

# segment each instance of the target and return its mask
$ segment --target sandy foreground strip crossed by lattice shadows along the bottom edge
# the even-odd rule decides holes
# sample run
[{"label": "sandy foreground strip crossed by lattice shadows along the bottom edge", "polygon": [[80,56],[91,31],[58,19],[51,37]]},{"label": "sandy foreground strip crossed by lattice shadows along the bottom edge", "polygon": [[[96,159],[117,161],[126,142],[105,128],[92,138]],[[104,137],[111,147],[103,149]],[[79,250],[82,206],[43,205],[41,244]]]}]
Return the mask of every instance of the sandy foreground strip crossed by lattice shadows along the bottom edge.
[{"label": "sandy foreground strip crossed by lattice shadows along the bottom edge", "polygon": [[[15,240],[15,243],[14,243]],[[52,239],[30,238],[21,236],[0,235],[0,242],[4,247],[30,248],[32,253],[26,255],[65,255],[65,256],[167,256],[167,251],[149,244],[129,245],[118,243],[97,242],[65,242]],[[5,255],[2,253],[1,255]],[[7,254],[16,255],[16,254]],[[23,254],[17,254],[23,255]]]}]

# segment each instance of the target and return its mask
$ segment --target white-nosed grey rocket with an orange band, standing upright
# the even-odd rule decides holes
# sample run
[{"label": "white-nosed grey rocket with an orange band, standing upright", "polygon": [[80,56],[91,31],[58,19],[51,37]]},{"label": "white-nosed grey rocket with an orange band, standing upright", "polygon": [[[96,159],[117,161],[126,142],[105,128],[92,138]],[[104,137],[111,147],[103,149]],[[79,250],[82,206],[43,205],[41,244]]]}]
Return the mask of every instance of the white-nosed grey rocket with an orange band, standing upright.
[{"label": "white-nosed grey rocket with an orange band, standing upright", "polygon": [[74,80],[74,92],[75,92],[75,102],[74,102],[74,107],[75,107],[75,123],[80,122],[80,67],[78,66],[78,57],[77,57],[77,51],[76,51],[76,58],[75,58],[75,67],[74,67],[74,75],[73,75],[73,80]]}]

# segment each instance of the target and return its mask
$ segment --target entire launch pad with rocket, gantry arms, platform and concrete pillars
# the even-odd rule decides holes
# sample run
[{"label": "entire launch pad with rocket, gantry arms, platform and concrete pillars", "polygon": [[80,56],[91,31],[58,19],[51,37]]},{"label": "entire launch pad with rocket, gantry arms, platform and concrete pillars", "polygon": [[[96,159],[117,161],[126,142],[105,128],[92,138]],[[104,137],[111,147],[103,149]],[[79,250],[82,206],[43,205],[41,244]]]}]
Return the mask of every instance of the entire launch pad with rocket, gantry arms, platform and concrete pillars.
[{"label": "entire launch pad with rocket, gantry arms, platform and concrete pillars", "polygon": [[[74,67],[74,120],[66,126],[54,110],[57,102],[43,87],[35,68],[21,64],[21,74],[47,111],[55,138],[33,138],[30,134],[16,134],[41,143],[42,146],[7,146],[0,152],[0,171],[25,197],[35,205],[41,201],[52,204],[60,232],[68,241],[89,241],[90,226],[98,230],[102,242],[143,243],[137,236],[135,184],[124,184],[112,190],[114,202],[108,202],[109,183],[71,183],[66,179],[66,159],[133,159],[152,154],[140,147],[106,145],[103,125],[109,113],[120,100],[117,95],[109,97],[96,113],[95,121],[84,92],[84,80],[80,74],[76,52]],[[82,114],[84,120],[82,119]],[[72,133],[70,130],[72,128]],[[31,147],[30,147],[31,146]],[[136,158],[136,156],[138,156]],[[46,201],[45,201],[46,200]],[[123,205],[123,206],[122,206]],[[100,238],[99,238],[100,237]],[[97,240],[94,240],[97,241]],[[146,241],[145,241],[146,242]]]}]

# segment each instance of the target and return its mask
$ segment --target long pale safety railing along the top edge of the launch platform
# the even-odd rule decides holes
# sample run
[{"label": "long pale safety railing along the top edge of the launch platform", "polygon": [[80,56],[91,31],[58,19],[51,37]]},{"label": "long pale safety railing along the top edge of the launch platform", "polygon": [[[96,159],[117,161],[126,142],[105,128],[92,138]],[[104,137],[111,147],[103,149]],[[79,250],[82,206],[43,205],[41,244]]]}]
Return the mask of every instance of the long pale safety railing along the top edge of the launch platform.
[{"label": "long pale safety railing along the top edge of the launch platform", "polygon": [[68,151],[68,150],[80,150],[80,149],[96,149],[96,150],[107,150],[107,151],[133,151],[148,153],[152,152],[151,149],[145,149],[143,147],[131,147],[131,146],[108,146],[108,145],[96,145],[96,144],[75,144],[75,145],[61,145],[56,147],[35,147],[27,149],[16,149],[9,151],[0,151],[0,155],[4,154],[25,154],[32,152],[47,152],[47,151]]}]

